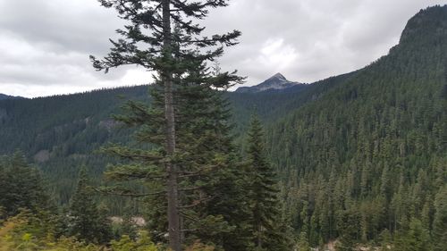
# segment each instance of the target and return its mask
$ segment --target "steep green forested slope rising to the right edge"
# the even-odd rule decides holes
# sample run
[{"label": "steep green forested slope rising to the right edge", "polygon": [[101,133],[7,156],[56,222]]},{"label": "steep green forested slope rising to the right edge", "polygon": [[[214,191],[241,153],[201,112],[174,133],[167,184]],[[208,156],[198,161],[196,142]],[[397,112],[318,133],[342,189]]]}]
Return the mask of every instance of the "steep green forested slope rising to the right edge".
[{"label": "steep green forested slope rising to the right edge", "polygon": [[388,55],[272,125],[267,146],[313,245],[415,222],[434,231],[447,183],[447,6],[417,13]]}]

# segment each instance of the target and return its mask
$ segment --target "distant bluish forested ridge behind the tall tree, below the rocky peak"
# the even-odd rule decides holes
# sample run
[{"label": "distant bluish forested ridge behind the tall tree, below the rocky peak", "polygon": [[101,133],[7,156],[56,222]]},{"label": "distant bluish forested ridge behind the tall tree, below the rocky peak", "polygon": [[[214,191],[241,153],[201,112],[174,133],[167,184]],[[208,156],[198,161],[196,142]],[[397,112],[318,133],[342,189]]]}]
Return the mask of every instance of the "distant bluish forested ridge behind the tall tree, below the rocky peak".
[{"label": "distant bluish forested ridge behind the tall tree, below the rocky peak", "polygon": [[[284,91],[223,93],[231,103],[234,134],[238,143],[247,130],[249,117],[258,113],[266,122],[316,99],[318,93],[346,77],[323,80],[321,85]],[[97,154],[107,142],[131,141],[131,130],[113,121],[113,113],[128,99],[150,102],[150,86],[102,89],[75,95],[8,99],[0,101],[0,155],[21,150],[46,173],[56,201],[68,202],[80,165],[99,178],[111,160]],[[121,207],[119,205],[118,207]]]}]

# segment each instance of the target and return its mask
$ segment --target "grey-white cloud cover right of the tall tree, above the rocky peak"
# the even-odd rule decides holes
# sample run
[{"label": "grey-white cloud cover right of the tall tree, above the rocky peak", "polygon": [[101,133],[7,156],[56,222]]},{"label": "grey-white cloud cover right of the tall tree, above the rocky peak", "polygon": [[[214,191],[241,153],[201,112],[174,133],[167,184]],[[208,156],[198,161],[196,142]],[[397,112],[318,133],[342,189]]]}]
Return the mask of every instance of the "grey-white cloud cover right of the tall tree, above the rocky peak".
[{"label": "grey-white cloud cover right of the tall tree, above the rocky peak", "polygon": [[387,54],[409,18],[434,4],[447,1],[234,0],[210,14],[218,18],[210,18],[208,28],[242,31],[240,46],[222,61],[226,69],[236,68],[249,76],[248,85],[278,71],[274,61],[264,62],[268,41],[282,41],[280,52],[295,55],[279,71],[291,80],[314,82],[355,71]]}]

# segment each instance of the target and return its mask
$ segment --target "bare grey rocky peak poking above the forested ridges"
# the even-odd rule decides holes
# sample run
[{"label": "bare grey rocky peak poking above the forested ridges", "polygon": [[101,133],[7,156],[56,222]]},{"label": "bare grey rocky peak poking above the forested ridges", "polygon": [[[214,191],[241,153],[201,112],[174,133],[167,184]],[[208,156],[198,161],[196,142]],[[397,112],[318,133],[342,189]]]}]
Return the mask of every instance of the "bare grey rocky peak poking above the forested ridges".
[{"label": "bare grey rocky peak poking above the forested ridges", "polygon": [[[240,93],[257,93],[261,91],[266,90],[283,90],[287,88],[305,88],[306,85],[301,84],[299,82],[292,82],[287,80],[283,74],[276,73],[274,76],[270,77],[269,79],[266,79],[264,82],[258,84],[257,86],[253,87],[240,87],[236,89],[236,92]],[[298,88],[297,88],[298,87]]]}]

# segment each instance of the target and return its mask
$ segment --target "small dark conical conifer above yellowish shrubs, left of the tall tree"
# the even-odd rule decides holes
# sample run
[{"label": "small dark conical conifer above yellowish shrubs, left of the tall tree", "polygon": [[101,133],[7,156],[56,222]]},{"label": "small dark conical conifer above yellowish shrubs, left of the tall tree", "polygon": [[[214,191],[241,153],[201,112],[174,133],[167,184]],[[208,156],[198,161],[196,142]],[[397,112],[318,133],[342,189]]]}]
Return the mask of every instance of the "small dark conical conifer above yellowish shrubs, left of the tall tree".
[{"label": "small dark conical conifer above yellowish shrubs, left of the tall tree", "polygon": [[106,219],[104,207],[98,211],[88,186],[87,171],[82,167],[78,186],[70,202],[69,234],[89,243],[107,243],[112,237],[110,222]]}]

